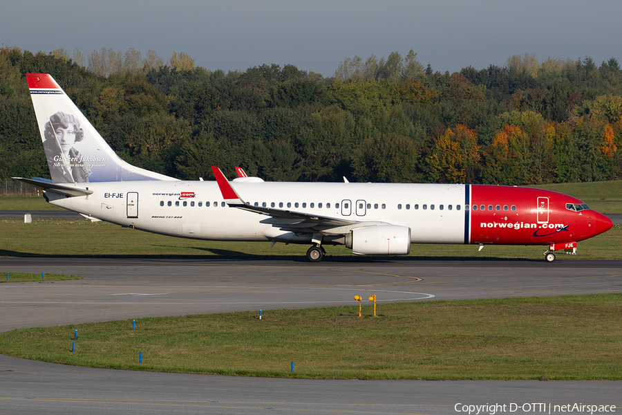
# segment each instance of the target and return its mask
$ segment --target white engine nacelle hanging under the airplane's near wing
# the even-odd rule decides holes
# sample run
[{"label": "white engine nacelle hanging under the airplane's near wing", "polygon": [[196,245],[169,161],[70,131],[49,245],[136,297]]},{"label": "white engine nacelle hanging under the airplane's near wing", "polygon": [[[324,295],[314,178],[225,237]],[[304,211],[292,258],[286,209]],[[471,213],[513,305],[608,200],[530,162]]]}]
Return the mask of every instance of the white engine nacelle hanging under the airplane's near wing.
[{"label": "white engine nacelle hanging under the airplane's near wing", "polygon": [[411,252],[411,228],[399,225],[374,225],[353,229],[346,247],[359,255],[408,255]]}]

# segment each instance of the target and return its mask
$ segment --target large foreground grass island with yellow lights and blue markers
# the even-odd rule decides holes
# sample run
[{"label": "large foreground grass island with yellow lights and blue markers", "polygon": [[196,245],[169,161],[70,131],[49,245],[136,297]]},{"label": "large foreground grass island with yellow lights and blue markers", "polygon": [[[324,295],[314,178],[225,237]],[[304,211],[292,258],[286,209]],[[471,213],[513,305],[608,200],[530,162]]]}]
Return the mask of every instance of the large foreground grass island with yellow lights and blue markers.
[{"label": "large foreground grass island with yellow lights and blue markers", "polygon": [[378,317],[365,318],[356,317],[357,306],[269,311],[262,320],[257,312],[154,317],[136,320],[135,331],[131,320],[19,329],[0,334],[0,353],[241,376],[622,379],[622,294],[379,304],[378,310]]}]

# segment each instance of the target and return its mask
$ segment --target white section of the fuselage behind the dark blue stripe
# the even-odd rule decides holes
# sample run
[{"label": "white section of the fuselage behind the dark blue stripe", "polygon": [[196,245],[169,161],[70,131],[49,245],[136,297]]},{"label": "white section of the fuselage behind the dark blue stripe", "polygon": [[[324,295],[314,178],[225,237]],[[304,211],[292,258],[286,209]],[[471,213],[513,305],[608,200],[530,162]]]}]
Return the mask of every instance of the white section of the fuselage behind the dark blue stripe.
[{"label": "white section of the fuselage behind the dark blue stripe", "polygon": [[[250,205],[404,225],[411,228],[413,243],[469,243],[464,232],[466,185],[234,184]],[[279,228],[278,220],[270,216],[229,207],[215,181],[100,182],[79,187],[93,194],[70,198],[49,194],[50,203],[93,219],[174,237],[267,241],[265,235]]]}]

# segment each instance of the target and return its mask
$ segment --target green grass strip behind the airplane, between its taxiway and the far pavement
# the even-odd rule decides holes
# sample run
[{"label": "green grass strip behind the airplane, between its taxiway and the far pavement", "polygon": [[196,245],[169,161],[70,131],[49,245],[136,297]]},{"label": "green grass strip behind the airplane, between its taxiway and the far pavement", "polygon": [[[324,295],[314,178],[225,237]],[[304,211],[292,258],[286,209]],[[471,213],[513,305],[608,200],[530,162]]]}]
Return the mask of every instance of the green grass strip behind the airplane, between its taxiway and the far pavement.
[{"label": "green grass strip behind the airplane, between its taxiway and the far pavement", "polygon": [[[97,241],[97,243],[84,243]],[[106,222],[35,219],[0,220],[0,257],[288,257],[305,255],[306,245],[270,242],[200,241],[142,232]],[[352,257],[344,246],[327,246],[332,257]],[[542,259],[543,246],[413,244],[410,257]],[[559,258],[622,259],[622,227],[578,243],[578,255]]]}]

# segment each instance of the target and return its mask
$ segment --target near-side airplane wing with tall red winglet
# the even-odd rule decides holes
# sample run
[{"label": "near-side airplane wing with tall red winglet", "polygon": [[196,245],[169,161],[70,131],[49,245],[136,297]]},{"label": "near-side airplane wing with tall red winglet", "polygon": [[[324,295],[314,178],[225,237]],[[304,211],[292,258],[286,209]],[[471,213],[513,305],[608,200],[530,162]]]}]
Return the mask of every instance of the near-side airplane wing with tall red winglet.
[{"label": "near-side airplane wing with tall red winglet", "polygon": [[270,216],[270,218],[261,221],[262,223],[270,223],[283,230],[290,230],[293,232],[321,232],[323,230],[332,230],[331,232],[326,232],[330,234],[334,233],[334,228],[343,228],[337,233],[347,233],[351,228],[355,228],[359,224],[365,223],[365,225],[369,225],[369,223],[364,221],[348,221],[330,216],[275,208],[261,208],[260,206],[251,205],[241,199],[218,167],[211,167],[211,169],[214,172],[214,176],[216,176],[216,182],[218,182],[218,187],[220,188],[220,193],[223,194],[225,203],[232,208]]}]

